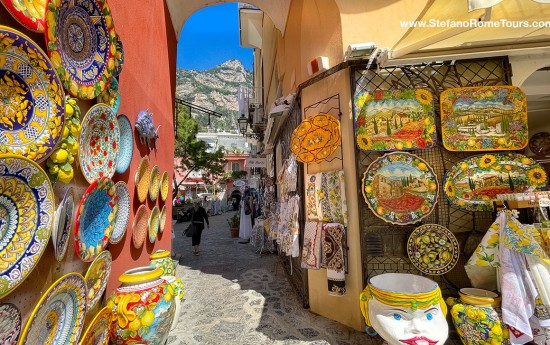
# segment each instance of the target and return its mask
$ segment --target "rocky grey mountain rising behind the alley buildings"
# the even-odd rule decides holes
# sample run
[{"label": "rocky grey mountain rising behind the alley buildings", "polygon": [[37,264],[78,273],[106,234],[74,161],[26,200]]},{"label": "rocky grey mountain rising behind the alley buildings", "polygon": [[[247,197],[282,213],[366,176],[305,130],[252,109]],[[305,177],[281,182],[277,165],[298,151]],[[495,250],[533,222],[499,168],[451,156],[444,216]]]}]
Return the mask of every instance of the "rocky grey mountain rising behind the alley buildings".
[{"label": "rocky grey mountain rising behind the alley buildings", "polygon": [[[239,104],[237,92],[241,85],[252,86],[252,72],[239,60],[229,60],[205,71],[176,71],[176,97],[224,116],[212,117],[212,129],[237,129]],[[208,123],[208,115],[192,110],[201,126]]]}]

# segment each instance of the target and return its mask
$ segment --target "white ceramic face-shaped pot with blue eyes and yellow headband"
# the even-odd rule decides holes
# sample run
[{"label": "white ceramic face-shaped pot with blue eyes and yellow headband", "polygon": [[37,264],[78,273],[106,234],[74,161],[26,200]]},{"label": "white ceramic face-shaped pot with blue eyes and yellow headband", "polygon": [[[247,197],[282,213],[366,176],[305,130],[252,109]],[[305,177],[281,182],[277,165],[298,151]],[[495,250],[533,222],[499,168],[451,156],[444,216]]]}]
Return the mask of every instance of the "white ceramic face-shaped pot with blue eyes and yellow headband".
[{"label": "white ceramic face-shaped pot with blue eyes and yellow headband", "polygon": [[389,345],[443,345],[449,335],[447,307],[436,282],[405,273],[369,279],[361,312]]}]

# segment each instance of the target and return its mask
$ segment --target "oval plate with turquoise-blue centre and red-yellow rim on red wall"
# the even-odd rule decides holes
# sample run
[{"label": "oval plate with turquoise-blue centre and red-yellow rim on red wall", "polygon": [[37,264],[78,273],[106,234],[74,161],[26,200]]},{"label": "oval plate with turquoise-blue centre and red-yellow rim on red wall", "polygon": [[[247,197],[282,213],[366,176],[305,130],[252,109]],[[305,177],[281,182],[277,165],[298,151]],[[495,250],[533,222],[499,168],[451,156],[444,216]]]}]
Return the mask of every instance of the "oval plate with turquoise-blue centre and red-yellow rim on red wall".
[{"label": "oval plate with turquoise-blue centre and red-yellow rim on red wall", "polygon": [[109,243],[118,213],[115,184],[106,177],[94,181],[86,190],[76,211],[74,241],[82,261],[96,258]]}]

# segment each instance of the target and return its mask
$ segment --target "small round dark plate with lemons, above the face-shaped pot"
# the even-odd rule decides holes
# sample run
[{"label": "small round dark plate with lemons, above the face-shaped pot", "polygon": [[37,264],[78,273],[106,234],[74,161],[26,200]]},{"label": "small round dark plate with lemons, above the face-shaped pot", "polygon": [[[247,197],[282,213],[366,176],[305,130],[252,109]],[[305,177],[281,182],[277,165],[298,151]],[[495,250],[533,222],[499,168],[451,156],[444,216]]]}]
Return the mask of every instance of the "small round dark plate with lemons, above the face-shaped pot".
[{"label": "small round dark plate with lemons, above the face-shaped pot", "polygon": [[407,254],[420,272],[441,275],[456,265],[460,251],[458,241],[449,229],[439,224],[424,224],[409,236]]}]

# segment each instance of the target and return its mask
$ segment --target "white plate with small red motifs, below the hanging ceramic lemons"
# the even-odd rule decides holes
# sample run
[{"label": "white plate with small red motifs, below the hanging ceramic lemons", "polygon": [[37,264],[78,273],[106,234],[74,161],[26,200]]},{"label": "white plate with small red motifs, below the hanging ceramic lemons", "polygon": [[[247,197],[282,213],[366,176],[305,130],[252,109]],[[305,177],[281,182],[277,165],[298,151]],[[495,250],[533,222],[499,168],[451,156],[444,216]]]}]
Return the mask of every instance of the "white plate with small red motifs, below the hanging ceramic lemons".
[{"label": "white plate with small red motifs, below the hanging ceramic lemons", "polygon": [[115,174],[120,150],[118,121],[108,106],[96,104],[82,120],[78,162],[82,174],[92,183],[99,177]]}]

